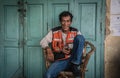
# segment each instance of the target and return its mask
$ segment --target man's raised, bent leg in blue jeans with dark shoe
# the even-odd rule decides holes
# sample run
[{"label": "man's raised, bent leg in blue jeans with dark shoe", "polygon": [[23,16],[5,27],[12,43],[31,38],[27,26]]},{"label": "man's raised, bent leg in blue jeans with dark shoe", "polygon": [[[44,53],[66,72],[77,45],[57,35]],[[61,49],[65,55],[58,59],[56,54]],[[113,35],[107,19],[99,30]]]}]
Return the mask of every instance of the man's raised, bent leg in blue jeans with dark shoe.
[{"label": "man's raised, bent leg in blue jeans with dark shoe", "polygon": [[72,50],[72,55],[71,55],[71,64],[72,64],[73,73],[76,76],[80,75],[78,66],[82,61],[84,43],[85,43],[85,38],[82,35],[77,35],[74,38],[73,50]]}]

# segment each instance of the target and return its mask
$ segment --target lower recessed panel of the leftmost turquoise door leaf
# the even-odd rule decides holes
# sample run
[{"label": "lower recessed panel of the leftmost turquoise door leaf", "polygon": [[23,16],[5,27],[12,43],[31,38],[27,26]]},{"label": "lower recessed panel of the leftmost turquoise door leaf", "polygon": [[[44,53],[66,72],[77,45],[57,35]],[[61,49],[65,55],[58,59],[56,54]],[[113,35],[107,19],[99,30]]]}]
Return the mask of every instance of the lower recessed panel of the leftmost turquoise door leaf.
[{"label": "lower recessed panel of the leftmost turquoise door leaf", "polygon": [[4,47],[5,51],[5,75],[4,78],[13,77],[14,73],[19,70],[20,67],[20,59],[19,59],[19,50],[13,47]]}]

